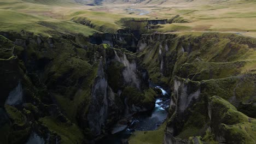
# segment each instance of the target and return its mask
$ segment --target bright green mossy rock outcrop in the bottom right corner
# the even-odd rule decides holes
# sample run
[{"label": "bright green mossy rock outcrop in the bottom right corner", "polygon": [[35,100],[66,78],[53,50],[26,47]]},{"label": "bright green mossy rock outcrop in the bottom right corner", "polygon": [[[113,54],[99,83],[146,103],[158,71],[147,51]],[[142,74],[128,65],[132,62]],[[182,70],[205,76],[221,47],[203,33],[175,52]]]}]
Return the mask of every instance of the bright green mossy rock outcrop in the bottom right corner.
[{"label": "bright green mossy rock outcrop in the bottom right corner", "polygon": [[256,120],[237,111],[228,101],[213,96],[209,99],[208,113],[211,133],[222,143],[255,143]]}]

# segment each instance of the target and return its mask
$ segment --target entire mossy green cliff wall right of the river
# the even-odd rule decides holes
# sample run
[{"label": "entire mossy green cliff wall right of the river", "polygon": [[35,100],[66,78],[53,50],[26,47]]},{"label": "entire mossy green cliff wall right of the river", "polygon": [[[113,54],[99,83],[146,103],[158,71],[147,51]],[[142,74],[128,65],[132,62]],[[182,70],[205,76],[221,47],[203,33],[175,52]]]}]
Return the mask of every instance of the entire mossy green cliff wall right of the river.
[{"label": "entire mossy green cliff wall right of the river", "polygon": [[[165,143],[254,142],[249,135],[255,133],[251,127],[256,113],[248,110],[256,110],[255,47],[255,39],[234,34],[142,35],[138,55],[150,80],[172,88]],[[218,99],[214,95],[251,118],[240,121],[240,114],[230,113],[230,118],[237,117],[230,128],[225,118],[216,122],[226,116],[218,111],[220,105],[214,106],[213,116],[210,101]],[[243,130],[245,127],[251,134]],[[235,139],[231,136],[234,133],[243,138]]]}]

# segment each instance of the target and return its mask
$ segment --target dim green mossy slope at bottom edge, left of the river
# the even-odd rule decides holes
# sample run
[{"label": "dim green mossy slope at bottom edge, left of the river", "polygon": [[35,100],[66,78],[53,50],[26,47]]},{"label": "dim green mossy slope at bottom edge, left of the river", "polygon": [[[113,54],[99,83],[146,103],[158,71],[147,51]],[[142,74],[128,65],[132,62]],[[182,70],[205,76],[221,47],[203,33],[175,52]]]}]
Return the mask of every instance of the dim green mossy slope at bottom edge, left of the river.
[{"label": "dim green mossy slope at bottom edge, left of the river", "polygon": [[61,123],[54,117],[40,118],[42,122],[50,131],[55,131],[61,136],[61,143],[82,143],[84,136],[80,129],[75,124]]}]

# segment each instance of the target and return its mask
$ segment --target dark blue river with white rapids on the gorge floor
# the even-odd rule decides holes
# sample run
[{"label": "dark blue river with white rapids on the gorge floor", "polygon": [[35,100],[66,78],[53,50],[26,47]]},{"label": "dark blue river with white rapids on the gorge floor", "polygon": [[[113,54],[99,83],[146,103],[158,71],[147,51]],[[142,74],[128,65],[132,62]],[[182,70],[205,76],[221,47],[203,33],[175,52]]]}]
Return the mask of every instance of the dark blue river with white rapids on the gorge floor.
[{"label": "dark blue river with white rapids on the gorge floor", "polygon": [[150,112],[139,112],[132,115],[129,125],[119,125],[112,130],[111,135],[98,141],[98,144],[122,144],[134,131],[148,131],[157,129],[166,119],[170,104],[170,95],[160,86],[155,86],[162,92],[162,96],[156,98],[155,107]]}]

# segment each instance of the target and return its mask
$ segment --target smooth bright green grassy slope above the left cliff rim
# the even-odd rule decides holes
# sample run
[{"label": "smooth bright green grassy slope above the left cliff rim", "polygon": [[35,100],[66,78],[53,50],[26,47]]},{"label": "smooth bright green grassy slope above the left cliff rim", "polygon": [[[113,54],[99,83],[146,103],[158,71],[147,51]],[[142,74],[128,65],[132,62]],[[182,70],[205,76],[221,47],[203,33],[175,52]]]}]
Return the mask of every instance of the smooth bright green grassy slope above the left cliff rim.
[{"label": "smooth bright green grassy slope above the left cliff rim", "polygon": [[91,35],[96,32],[94,29],[71,21],[32,16],[8,10],[0,10],[0,19],[1,31],[20,32],[24,30],[36,35],[40,34],[49,37],[56,33],[82,33],[84,35]]}]

